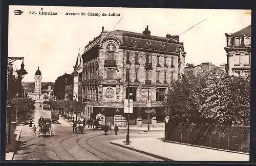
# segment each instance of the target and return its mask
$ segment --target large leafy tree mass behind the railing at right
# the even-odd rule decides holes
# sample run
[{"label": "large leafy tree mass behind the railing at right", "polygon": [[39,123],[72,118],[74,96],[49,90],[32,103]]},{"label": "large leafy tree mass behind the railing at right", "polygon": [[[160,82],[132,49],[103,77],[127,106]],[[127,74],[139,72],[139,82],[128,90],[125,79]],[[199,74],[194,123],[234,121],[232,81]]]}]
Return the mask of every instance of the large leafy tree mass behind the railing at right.
[{"label": "large leafy tree mass behind the railing at right", "polygon": [[195,124],[191,132],[195,144],[205,141],[216,127],[225,131],[231,124],[249,125],[250,75],[218,71],[183,75],[168,87],[164,107],[170,116],[168,132],[180,123],[183,130]]}]

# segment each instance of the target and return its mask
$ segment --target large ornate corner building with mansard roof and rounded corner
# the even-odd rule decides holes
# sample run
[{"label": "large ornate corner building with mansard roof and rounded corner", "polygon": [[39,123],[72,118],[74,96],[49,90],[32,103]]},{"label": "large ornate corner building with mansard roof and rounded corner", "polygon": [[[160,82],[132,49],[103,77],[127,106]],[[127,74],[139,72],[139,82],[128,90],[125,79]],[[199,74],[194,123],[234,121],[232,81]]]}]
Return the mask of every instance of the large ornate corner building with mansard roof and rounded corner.
[{"label": "large ornate corner building with mansard roof and rounded corner", "polygon": [[[122,116],[124,99],[128,99],[128,81],[133,99],[130,124],[137,118],[147,123],[146,101],[164,120],[163,95],[172,79],[184,74],[185,52],[179,36],[152,36],[148,26],[142,34],[115,30],[104,31],[90,41],[82,54],[82,94],[86,118],[101,113],[106,123],[116,123]],[[143,120],[144,119],[144,120]]]}]

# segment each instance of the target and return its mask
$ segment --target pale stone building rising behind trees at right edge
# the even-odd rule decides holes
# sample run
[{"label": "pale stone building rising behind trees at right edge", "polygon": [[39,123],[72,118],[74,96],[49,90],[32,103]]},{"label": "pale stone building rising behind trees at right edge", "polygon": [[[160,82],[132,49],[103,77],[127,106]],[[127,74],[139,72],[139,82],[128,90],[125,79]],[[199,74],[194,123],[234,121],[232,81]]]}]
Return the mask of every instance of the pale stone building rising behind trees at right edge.
[{"label": "pale stone building rising behind trees at right edge", "polygon": [[229,75],[245,75],[250,72],[251,25],[233,34],[225,34],[227,46],[227,71]]}]

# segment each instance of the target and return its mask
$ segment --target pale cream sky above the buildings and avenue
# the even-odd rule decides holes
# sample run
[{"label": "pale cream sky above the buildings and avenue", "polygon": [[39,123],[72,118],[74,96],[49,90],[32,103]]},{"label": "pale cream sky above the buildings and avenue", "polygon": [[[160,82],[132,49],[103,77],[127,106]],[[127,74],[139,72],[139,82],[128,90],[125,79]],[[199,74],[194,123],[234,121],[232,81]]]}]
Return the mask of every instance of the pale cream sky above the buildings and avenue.
[{"label": "pale cream sky above the buildings and avenue", "polygon": [[[15,15],[14,10],[23,13]],[[57,15],[39,15],[41,11]],[[71,12],[80,15],[66,15]],[[88,16],[89,12],[101,15]],[[108,16],[109,13],[120,16]],[[250,10],[220,9],[9,6],[8,57],[24,57],[28,74],[23,81],[34,81],[39,66],[42,81],[54,82],[58,76],[73,72],[78,49],[82,54],[84,46],[100,34],[102,26],[105,31],[142,33],[148,25],[154,36],[180,35],[187,53],[185,63],[198,65],[207,61],[219,66],[226,63],[225,33],[250,25],[250,13]],[[21,63],[16,61],[14,65],[20,69]]]}]

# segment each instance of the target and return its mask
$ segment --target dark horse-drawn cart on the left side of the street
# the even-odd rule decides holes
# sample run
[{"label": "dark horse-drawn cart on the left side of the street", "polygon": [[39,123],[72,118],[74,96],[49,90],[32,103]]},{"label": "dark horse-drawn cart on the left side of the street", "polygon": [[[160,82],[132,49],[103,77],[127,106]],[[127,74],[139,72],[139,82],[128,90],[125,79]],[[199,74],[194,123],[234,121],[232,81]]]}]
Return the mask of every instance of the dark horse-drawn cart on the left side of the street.
[{"label": "dark horse-drawn cart on the left side of the street", "polygon": [[38,120],[38,137],[40,134],[46,135],[47,133],[52,135],[52,125],[51,125],[51,119],[50,118],[40,118]]}]

